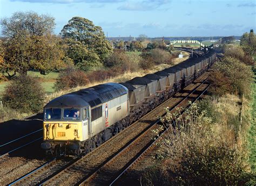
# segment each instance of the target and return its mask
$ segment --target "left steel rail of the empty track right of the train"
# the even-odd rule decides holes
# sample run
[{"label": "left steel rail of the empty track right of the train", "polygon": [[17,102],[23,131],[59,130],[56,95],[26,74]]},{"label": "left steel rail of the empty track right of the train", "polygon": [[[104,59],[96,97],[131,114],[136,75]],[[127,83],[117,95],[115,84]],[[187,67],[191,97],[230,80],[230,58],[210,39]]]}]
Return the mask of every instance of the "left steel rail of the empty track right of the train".
[{"label": "left steel rail of the empty track right of the train", "polygon": [[[188,95],[187,95],[183,100],[181,100],[176,106],[174,106],[173,108],[169,109],[169,111],[172,112],[174,109],[176,109],[181,103],[183,103],[187,98],[189,98],[191,94],[193,94],[195,91],[197,91],[197,89],[198,89],[199,87],[201,87],[202,85],[204,85],[205,82],[207,81],[207,79],[208,79],[208,78],[206,78],[203,82],[201,82],[201,84],[200,84],[199,86],[197,86],[196,88],[194,88],[193,91],[192,91],[190,94],[188,94]],[[195,101],[196,101],[196,100],[195,100]],[[191,106],[191,105],[190,105],[190,106]],[[187,108],[185,108],[185,109],[187,109]],[[162,117],[165,116],[165,115],[166,115],[166,113],[164,113],[164,114],[162,115]],[[92,173],[91,175],[87,176],[86,178],[84,178],[83,180],[81,180],[80,182],[78,182],[79,186],[80,186],[80,185],[85,185],[85,183],[88,183],[90,180],[92,180],[93,177],[95,177],[95,176],[100,172],[100,170],[102,170],[107,164],[112,163],[112,161],[113,161],[116,157],[118,157],[119,155],[121,155],[121,154],[124,153],[125,151],[129,150],[129,148],[130,148],[131,146],[133,146],[136,141],[138,141],[138,140],[141,139],[143,136],[145,136],[146,133],[152,131],[152,128],[153,128],[153,127],[156,127],[156,125],[157,125],[159,122],[160,122],[160,120],[158,119],[156,122],[152,123],[152,125],[150,126],[150,128],[148,128],[143,134],[139,135],[136,139],[132,140],[132,141],[129,143],[128,146],[126,146],[122,151],[119,151],[119,153],[117,153],[116,155],[114,155],[114,156],[112,157],[112,159],[110,159],[110,160],[107,161],[105,164],[103,164],[102,166],[100,166],[94,173]]]}]

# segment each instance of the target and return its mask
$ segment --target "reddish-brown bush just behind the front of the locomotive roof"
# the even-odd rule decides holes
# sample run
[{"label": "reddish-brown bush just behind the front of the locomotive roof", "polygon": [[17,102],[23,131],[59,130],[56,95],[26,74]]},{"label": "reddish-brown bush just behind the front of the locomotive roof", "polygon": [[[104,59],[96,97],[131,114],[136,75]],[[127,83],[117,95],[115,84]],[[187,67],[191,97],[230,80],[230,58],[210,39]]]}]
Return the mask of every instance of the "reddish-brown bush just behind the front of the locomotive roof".
[{"label": "reddish-brown bush just behind the front of the locomotive roof", "polygon": [[89,80],[86,74],[81,70],[75,68],[68,68],[61,72],[54,85],[56,91],[63,89],[75,88],[77,86],[85,86]]}]

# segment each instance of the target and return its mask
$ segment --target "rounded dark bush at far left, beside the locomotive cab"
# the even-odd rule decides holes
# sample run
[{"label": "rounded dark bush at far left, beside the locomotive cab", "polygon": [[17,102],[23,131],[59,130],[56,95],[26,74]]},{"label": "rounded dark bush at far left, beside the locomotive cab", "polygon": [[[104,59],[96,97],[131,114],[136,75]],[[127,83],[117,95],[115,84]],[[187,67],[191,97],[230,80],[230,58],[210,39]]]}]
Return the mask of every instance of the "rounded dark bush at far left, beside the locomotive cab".
[{"label": "rounded dark bush at far left, beside the locomotive cab", "polygon": [[39,81],[29,75],[19,75],[6,86],[3,103],[23,113],[39,112],[43,108],[45,92]]}]

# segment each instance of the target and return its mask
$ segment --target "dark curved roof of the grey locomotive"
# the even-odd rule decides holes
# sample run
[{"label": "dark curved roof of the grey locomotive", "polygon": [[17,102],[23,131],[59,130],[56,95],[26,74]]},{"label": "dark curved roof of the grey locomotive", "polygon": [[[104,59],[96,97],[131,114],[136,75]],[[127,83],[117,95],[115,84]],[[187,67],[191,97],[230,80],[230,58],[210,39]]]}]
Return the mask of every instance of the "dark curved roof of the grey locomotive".
[{"label": "dark curved roof of the grey locomotive", "polygon": [[127,94],[127,91],[125,86],[109,82],[62,95],[51,100],[45,107],[94,107]]}]

